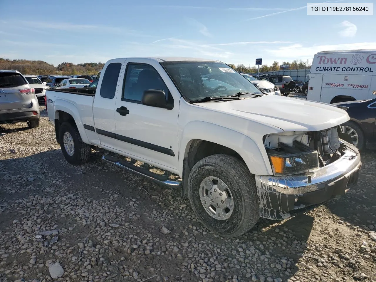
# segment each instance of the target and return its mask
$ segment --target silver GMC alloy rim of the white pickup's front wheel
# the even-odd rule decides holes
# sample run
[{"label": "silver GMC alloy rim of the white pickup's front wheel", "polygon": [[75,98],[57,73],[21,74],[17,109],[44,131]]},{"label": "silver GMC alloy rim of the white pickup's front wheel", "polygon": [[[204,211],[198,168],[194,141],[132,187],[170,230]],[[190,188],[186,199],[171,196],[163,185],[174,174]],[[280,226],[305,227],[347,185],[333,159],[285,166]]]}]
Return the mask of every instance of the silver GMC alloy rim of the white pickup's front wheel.
[{"label": "silver GMC alloy rim of the white pickup's front wheel", "polygon": [[205,211],[217,220],[228,219],[233,212],[233,197],[221,179],[208,176],[200,184],[200,200]]}]

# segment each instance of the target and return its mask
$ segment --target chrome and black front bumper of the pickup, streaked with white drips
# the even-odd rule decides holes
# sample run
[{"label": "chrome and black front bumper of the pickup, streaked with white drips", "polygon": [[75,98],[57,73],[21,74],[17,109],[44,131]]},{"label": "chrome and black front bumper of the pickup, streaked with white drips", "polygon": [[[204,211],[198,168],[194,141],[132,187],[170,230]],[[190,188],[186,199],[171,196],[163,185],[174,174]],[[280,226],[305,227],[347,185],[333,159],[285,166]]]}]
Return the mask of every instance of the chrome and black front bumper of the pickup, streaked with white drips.
[{"label": "chrome and black front bumper of the pickup, streaked with white drips", "polygon": [[337,161],[305,174],[256,175],[260,217],[281,220],[309,211],[336,195],[345,194],[358,182],[361,159],[358,150],[346,143]]}]

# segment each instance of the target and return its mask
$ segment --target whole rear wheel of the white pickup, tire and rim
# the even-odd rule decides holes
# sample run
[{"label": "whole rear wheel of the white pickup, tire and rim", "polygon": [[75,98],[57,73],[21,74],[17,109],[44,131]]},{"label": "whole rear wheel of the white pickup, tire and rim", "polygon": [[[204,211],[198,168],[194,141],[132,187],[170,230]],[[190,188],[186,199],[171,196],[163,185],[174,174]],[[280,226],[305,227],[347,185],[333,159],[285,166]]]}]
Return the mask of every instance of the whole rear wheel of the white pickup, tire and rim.
[{"label": "whole rear wheel of the white pickup, tire and rim", "polygon": [[90,156],[90,145],[83,143],[76,126],[64,122],[59,132],[60,147],[64,158],[72,165],[85,164]]}]

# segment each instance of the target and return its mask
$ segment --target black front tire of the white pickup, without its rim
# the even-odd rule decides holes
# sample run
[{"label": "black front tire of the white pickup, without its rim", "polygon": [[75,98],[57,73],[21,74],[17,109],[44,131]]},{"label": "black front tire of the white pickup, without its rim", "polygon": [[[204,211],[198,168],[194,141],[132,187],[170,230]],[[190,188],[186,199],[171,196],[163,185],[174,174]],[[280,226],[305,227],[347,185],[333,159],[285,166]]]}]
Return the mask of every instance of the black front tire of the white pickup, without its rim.
[{"label": "black front tire of the white pickup, without its rim", "polygon": [[[218,177],[230,188],[233,211],[226,220],[212,217],[201,203],[200,185],[208,176]],[[240,236],[255,226],[259,219],[255,177],[244,162],[233,156],[218,154],[197,162],[188,178],[188,197],[199,221],[223,237]]]}]

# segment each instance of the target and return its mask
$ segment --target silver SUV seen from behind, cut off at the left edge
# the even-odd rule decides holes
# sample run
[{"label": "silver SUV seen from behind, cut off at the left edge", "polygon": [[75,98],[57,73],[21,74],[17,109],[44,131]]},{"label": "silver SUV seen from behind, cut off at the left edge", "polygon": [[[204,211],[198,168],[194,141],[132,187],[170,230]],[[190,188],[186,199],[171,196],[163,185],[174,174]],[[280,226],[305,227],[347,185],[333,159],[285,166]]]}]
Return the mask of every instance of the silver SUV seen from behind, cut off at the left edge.
[{"label": "silver SUV seen from behind, cut off at the left edge", "polygon": [[38,127],[39,104],[34,88],[15,70],[0,70],[0,124],[26,122]]}]

